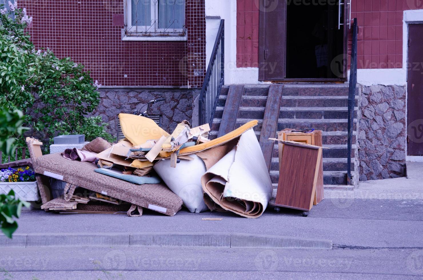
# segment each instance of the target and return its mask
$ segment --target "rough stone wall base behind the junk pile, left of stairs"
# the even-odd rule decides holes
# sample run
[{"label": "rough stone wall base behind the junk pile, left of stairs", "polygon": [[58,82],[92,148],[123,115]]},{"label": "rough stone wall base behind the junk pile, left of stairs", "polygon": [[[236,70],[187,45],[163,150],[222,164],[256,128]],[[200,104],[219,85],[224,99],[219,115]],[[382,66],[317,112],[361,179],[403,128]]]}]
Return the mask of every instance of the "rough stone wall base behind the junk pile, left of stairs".
[{"label": "rough stone wall base behind the junk pile, left of stairs", "polygon": [[196,93],[196,90],[191,89],[100,89],[100,104],[93,115],[100,115],[109,124],[108,132],[117,137],[119,113],[131,114],[140,110],[148,101],[163,97],[166,101],[150,106],[148,114],[162,114],[162,128],[171,133],[183,120],[192,123]]}]

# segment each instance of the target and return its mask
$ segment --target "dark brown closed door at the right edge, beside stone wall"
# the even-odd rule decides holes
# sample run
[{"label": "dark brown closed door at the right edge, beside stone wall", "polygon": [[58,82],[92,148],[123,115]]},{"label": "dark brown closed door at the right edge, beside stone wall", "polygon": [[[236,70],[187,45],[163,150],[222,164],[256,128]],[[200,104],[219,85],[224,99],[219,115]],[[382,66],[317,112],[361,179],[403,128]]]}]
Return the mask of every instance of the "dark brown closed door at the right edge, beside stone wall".
[{"label": "dark brown closed door at the right edge, beside stone wall", "polygon": [[408,29],[407,143],[409,156],[423,156],[423,25]]}]

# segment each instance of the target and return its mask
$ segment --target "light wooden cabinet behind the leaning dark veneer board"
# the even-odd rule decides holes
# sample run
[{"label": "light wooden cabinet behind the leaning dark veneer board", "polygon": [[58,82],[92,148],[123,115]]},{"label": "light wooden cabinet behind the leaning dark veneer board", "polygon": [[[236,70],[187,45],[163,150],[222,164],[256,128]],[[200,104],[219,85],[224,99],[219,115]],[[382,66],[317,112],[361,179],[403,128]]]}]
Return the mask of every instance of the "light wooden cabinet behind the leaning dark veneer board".
[{"label": "light wooden cabinet behind the leaning dark veneer board", "polygon": [[[310,144],[315,146],[322,146],[321,130],[315,130],[313,132],[293,132],[294,129],[283,129],[277,133],[278,139],[285,141],[295,141],[304,144]],[[279,151],[282,151],[282,145],[279,144]],[[281,153],[279,152],[279,166],[281,159]],[[316,184],[316,195],[314,197],[314,205],[317,205],[323,200],[323,159],[320,162],[319,175]]]}]

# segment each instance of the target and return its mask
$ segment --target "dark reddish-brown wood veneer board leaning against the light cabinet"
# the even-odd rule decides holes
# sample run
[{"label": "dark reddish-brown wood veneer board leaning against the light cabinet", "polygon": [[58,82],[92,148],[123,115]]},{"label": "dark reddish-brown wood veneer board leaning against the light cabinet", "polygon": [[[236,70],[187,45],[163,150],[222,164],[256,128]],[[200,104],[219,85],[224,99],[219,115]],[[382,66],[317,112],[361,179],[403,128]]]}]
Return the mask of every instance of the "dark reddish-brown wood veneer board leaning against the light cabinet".
[{"label": "dark reddish-brown wood veneer board leaning against the light cabinet", "polygon": [[275,203],[310,211],[316,194],[321,148],[284,143]]}]

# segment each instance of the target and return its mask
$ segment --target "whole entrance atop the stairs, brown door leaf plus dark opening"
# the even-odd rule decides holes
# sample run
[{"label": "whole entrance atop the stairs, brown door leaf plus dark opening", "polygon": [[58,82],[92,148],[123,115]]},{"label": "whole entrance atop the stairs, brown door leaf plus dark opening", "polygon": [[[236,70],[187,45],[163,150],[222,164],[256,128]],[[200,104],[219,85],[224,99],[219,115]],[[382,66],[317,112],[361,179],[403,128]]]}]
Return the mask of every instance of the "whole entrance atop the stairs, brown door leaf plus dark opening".
[{"label": "whole entrance atop the stairs, brown door leaf plus dark opening", "polygon": [[260,16],[259,80],[346,78],[349,5],[280,0]]}]

